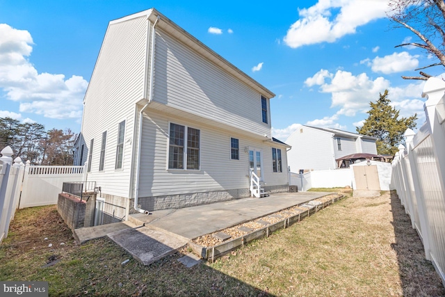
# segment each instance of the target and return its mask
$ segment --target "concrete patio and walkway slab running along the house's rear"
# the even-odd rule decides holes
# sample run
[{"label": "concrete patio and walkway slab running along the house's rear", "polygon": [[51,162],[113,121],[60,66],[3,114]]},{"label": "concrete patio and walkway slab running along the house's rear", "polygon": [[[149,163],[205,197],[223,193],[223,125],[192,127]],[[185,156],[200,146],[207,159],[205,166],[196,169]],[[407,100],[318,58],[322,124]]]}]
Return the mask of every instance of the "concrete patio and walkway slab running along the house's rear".
[{"label": "concrete patio and walkway slab running along the house's rear", "polygon": [[279,193],[265,198],[243,198],[227,202],[152,211],[150,215],[132,214],[128,222],[74,230],[83,243],[108,236],[143,264],[170,255],[198,236],[223,230],[303,204],[331,193]]}]

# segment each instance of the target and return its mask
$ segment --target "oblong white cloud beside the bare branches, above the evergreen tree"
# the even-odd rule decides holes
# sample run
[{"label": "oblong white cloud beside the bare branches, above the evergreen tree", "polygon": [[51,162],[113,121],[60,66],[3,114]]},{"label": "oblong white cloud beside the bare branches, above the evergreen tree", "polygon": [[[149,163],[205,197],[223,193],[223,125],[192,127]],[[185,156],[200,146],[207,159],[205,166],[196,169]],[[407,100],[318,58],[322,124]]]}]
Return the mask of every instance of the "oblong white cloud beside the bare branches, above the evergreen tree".
[{"label": "oblong white cloud beside the bare branches, above the evergreen tree", "polygon": [[[382,58],[377,56],[371,63],[371,70],[384,74],[414,70],[419,66],[419,60],[417,58],[419,58],[419,55],[411,56],[407,51],[394,53]],[[360,61],[360,63],[362,63],[362,61]]]}]

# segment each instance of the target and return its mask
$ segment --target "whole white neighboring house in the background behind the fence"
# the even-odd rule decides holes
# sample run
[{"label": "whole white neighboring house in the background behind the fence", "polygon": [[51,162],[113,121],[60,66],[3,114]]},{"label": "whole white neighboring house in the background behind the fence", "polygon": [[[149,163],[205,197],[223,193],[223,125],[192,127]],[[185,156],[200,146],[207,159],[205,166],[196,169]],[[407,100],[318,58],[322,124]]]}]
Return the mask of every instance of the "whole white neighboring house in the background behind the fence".
[{"label": "whole white neighboring house in the background behind the fence", "polygon": [[292,172],[299,170],[336,169],[336,159],[348,154],[377,154],[377,138],[338,129],[300,125],[286,143],[292,146],[287,153]]}]

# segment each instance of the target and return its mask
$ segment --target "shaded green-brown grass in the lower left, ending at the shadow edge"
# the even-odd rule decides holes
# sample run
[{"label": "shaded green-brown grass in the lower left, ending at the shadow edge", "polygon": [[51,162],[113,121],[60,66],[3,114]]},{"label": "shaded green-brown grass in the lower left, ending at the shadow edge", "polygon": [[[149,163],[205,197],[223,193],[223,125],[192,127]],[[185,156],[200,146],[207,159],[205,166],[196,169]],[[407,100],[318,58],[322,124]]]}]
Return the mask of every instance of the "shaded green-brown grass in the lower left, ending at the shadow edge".
[{"label": "shaded green-brown grass in the lower left, ending at the shadow edge", "polygon": [[[0,246],[0,280],[44,280],[49,296],[268,295],[205,264],[186,268],[177,261],[184,252],[143,266],[108,238],[77,245],[55,206],[34,207],[11,222]],[[48,262],[54,265],[44,267]]]}]

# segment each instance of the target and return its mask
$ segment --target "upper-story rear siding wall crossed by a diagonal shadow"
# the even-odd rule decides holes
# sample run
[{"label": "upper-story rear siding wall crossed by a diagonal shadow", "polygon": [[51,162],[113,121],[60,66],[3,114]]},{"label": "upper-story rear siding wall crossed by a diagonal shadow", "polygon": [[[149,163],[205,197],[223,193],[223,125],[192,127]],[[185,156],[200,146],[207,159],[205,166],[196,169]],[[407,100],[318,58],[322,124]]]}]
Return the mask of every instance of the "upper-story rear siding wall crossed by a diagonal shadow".
[{"label": "upper-story rear siding wall crossed by a diagonal shadow", "polygon": [[167,33],[156,31],[154,100],[255,134],[270,136],[261,119],[261,94]]}]

